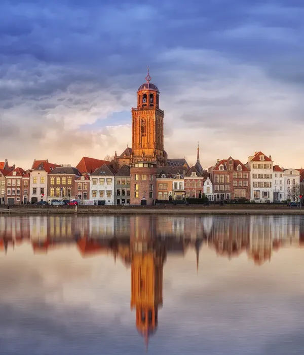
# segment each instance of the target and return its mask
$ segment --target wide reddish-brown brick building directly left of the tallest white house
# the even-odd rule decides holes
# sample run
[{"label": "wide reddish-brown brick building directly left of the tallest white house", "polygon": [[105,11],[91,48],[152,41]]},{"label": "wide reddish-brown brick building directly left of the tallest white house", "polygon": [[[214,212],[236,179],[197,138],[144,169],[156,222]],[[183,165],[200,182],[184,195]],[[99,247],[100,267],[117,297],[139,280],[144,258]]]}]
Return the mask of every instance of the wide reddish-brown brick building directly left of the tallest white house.
[{"label": "wide reddish-brown brick building directly left of the tallest white house", "polygon": [[250,199],[250,171],[240,160],[218,160],[209,172],[215,200]]}]

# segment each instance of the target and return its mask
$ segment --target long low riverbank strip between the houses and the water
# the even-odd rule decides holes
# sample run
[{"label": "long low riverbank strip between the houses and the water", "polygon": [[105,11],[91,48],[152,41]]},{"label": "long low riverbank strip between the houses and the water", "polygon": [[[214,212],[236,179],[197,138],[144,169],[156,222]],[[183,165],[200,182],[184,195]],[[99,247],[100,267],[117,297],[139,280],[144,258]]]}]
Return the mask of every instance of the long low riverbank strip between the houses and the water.
[{"label": "long low riverbank strip between the houses and the water", "polygon": [[15,215],[304,215],[304,207],[272,205],[226,206],[11,206],[0,214]]}]

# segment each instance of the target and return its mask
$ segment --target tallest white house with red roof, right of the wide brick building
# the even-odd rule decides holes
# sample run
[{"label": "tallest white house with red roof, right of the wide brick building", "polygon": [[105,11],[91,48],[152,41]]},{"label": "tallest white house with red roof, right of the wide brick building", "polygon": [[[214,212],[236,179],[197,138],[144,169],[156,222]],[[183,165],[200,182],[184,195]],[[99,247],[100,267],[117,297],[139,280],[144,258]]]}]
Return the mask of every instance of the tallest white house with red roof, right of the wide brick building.
[{"label": "tallest white house with red roof, right of the wide brick building", "polygon": [[255,202],[273,202],[273,161],[271,156],[255,152],[248,158],[250,170],[250,200]]}]

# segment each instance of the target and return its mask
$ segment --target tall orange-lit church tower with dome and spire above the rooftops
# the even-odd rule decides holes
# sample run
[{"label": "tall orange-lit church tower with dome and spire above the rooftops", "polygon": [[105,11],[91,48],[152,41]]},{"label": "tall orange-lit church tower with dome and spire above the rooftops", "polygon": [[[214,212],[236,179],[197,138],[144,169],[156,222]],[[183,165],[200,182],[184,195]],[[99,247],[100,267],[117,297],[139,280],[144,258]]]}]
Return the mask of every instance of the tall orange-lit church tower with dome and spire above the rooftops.
[{"label": "tall orange-lit church tower with dome and spire above the rooftops", "polygon": [[137,108],[132,109],[132,162],[153,161],[164,166],[164,111],[159,108],[159,89],[150,83],[149,68],[145,80],[137,90]]}]

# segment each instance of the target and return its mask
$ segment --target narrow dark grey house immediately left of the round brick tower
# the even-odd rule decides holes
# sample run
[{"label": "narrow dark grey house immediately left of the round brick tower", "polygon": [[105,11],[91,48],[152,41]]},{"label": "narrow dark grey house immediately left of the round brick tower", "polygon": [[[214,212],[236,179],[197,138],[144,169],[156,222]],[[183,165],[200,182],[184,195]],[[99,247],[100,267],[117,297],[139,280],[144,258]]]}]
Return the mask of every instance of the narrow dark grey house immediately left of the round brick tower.
[{"label": "narrow dark grey house immediately left of the round brick tower", "polygon": [[130,167],[128,165],[123,165],[115,175],[114,203],[116,205],[130,203],[130,179]]}]

